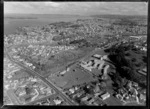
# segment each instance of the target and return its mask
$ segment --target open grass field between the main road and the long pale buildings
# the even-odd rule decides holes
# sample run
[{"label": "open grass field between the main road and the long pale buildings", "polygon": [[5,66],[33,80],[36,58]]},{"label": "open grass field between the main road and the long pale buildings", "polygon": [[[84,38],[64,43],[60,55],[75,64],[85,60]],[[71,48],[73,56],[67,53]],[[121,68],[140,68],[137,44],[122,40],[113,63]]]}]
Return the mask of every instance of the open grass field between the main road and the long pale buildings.
[{"label": "open grass field between the main road and the long pale buildings", "polygon": [[56,74],[49,77],[49,80],[62,88],[93,81],[94,78],[89,73],[81,70],[77,65],[71,67],[70,71],[64,75]]}]

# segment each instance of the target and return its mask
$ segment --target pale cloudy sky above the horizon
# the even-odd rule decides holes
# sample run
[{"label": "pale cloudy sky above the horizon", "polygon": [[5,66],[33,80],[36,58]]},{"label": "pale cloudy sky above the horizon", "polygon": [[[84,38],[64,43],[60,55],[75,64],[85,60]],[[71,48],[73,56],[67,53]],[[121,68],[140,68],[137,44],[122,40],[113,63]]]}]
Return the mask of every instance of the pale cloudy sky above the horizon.
[{"label": "pale cloudy sky above the horizon", "polygon": [[147,15],[147,2],[4,2],[4,14]]}]

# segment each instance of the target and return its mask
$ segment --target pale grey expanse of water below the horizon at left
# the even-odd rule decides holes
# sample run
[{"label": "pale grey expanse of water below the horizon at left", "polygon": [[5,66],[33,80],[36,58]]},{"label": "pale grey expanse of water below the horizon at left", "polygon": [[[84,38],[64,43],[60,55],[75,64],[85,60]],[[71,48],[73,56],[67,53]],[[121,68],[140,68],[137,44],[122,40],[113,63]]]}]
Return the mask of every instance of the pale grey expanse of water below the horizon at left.
[{"label": "pale grey expanse of water below the horizon at left", "polygon": [[85,19],[88,17],[40,17],[38,19],[4,19],[4,34],[13,34],[15,33],[17,27],[23,26],[44,26],[50,23],[59,22],[59,21],[75,21],[77,19]]}]

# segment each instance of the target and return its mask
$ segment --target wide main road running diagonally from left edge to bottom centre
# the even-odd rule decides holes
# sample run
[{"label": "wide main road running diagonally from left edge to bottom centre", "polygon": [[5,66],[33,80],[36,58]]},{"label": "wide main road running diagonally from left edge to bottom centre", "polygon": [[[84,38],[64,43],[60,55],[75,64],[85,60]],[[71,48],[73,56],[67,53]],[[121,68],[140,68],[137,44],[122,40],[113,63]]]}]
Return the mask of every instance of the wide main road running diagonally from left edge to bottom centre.
[{"label": "wide main road running diagonally from left edge to bottom centre", "polygon": [[72,100],[70,100],[70,98],[68,98],[64,93],[61,92],[61,89],[58,88],[57,86],[55,86],[52,82],[46,80],[44,77],[42,77],[39,73],[33,71],[32,69],[29,69],[28,67],[24,66],[23,64],[15,61],[12,59],[11,56],[9,56],[8,52],[7,52],[7,49],[5,48],[6,50],[6,55],[8,56],[8,58],[16,63],[17,65],[21,66],[22,68],[26,69],[29,73],[31,73],[32,75],[36,75],[37,77],[39,77],[42,81],[44,81],[47,85],[49,85],[53,90],[56,91],[56,93],[58,93],[59,95],[61,95],[61,97],[66,100],[70,105],[77,105],[76,103],[74,103]]}]

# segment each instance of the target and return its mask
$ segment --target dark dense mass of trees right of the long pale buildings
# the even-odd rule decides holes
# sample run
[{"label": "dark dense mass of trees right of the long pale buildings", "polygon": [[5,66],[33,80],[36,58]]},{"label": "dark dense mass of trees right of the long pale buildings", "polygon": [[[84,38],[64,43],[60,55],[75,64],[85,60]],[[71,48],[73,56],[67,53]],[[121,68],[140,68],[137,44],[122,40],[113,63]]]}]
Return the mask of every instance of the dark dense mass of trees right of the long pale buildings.
[{"label": "dark dense mass of trees right of the long pale buildings", "polygon": [[[126,59],[125,50],[129,50],[131,46],[112,46],[111,48],[105,50],[105,52],[109,53],[109,59],[115,64],[116,73],[114,75],[110,75],[111,79],[114,81],[114,87],[119,88],[122,87],[122,78],[126,78],[128,80],[136,81],[141,85],[144,85],[141,81],[139,81],[140,75],[137,74],[133,60]],[[134,59],[135,61],[135,59]]]}]

